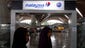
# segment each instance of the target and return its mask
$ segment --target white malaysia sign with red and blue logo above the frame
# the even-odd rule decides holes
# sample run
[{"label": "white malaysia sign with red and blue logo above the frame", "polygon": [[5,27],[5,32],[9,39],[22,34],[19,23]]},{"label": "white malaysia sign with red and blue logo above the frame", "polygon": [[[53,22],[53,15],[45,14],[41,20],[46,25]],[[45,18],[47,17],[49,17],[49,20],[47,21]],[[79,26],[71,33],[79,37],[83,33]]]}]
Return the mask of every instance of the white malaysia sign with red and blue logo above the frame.
[{"label": "white malaysia sign with red and blue logo above the frame", "polygon": [[64,1],[23,1],[23,10],[64,10]]}]

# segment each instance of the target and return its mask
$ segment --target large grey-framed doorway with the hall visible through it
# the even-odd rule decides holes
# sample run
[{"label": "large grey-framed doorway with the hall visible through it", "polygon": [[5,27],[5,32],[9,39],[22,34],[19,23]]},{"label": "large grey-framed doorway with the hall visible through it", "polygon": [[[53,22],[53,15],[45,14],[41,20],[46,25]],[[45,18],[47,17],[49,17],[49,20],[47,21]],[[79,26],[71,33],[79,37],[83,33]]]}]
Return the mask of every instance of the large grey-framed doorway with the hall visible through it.
[{"label": "large grey-framed doorway with the hall visible through it", "polygon": [[[16,28],[35,27],[37,30],[49,25],[53,33],[53,48],[76,48],[76,11],[74,10],[11,10],[11,45]],[[37,32],[38,38],[39,31]],[[36,40],[38,43],[38,40]],[[35,44],[37,48],[37,44]]]}]

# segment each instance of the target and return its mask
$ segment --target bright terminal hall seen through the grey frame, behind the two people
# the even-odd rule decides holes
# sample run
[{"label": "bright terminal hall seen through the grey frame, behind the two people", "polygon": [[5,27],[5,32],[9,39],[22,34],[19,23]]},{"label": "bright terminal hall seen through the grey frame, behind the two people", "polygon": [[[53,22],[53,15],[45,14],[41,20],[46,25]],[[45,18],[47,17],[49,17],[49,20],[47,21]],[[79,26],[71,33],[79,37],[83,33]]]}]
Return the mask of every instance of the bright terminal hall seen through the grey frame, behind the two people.
[{"label": "bright terminal hall seen through the grey frame, behind the two people", "polygon": [[70,15],[70,13],[17,13],[16,28],[20,26],[28,30],[32,27],[36,28],[37,32],[31,38],[33,40],[31,43],[34,44],[31,48],[38,48],[40,30],[49,25],[53,30],[51,37],[53,48],[68,48],[70,47]]}]

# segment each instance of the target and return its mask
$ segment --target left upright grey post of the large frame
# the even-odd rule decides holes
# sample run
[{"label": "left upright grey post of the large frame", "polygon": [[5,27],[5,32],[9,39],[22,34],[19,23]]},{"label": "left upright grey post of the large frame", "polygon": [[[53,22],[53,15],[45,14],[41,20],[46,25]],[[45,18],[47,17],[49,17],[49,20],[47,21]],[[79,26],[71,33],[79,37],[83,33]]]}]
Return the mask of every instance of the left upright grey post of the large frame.
[{"label": "left upright grey post of the large frame", "polygon": [[16,26],[16,13],[11,10],[11,25],[10,25],[10,48],[12,48],[12,43],[13,43],[13,36],[15,32],[15,26]]}]

